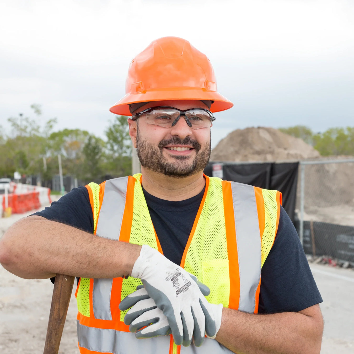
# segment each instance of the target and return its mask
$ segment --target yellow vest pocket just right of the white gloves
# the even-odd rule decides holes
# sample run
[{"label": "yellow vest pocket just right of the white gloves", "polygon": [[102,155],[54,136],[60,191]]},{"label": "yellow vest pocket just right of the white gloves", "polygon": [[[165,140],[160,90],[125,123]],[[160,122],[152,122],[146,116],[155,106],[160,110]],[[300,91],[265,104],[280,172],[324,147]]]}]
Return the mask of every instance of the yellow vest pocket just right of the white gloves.
[{"label": "yellow vest pocket just right of the white gloves", "polygon": [[212,304],[222,303],[229,307],[230,275],[228,259],[210,259],[201,262],[202,282],[209,286],[210,295],[206,299]]}]

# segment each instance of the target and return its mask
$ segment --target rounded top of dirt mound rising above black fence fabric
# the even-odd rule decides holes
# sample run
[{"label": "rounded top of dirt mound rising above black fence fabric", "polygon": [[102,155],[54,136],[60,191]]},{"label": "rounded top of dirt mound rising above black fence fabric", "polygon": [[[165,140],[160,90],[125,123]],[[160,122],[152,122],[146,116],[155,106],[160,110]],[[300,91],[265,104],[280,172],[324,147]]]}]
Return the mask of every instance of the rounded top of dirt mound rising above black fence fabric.
[{"label": "rounded top of dirt mound rising above black fence fabric", "polygon": [[287,161],[320,158],[320,153],[302,139],[278,129],[236,129],[211,152],[211,161]]}]

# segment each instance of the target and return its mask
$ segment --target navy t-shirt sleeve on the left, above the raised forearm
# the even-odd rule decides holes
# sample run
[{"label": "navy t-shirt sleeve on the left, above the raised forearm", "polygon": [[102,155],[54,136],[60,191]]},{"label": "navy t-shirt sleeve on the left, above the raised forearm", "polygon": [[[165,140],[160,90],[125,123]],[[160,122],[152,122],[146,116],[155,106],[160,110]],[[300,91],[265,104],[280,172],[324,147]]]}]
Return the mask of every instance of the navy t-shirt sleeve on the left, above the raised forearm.
[{"label": "navy t-shirt sleeve on the left, above the raised forearm", "polygon": [[58,201],[52,202],[50,207],[32,215],[39,215],[48,220],[93,233],[93,215],[89,192],[83,186],[74,188]]}]

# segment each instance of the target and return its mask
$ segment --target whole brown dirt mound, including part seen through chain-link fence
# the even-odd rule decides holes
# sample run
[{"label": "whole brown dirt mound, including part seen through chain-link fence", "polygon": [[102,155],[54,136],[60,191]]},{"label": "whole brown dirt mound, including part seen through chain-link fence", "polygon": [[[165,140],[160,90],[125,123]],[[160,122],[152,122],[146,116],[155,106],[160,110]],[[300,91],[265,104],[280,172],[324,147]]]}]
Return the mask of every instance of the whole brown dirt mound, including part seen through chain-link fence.
[{"label": "whole brown dirt mound, including part seen through chain-link fence", "polygon": [[[353,156],[321,156],[302,139],[274,128],[237,129],[211,152],[211,161],[259,162],[298,160],[345,160]],[[354,225],[354,163],[305,165],[305,219]],[[300,178],[296,211],[299,211]]]}]

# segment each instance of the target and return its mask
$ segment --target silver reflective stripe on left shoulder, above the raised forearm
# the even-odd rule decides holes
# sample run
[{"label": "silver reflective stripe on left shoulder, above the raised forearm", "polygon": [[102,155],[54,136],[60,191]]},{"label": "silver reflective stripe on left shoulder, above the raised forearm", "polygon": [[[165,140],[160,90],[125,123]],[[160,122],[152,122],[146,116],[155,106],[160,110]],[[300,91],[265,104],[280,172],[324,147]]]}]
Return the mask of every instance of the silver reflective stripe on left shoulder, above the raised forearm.
[{"label": "silver reflective stripe on left shoulder, above the raised forearm", "polygon": [[119,240],[120,228],[127,195],[128,177],[109,179],[105,183],[96,234],[111,240]]}]

